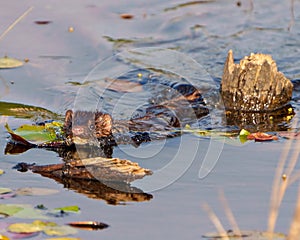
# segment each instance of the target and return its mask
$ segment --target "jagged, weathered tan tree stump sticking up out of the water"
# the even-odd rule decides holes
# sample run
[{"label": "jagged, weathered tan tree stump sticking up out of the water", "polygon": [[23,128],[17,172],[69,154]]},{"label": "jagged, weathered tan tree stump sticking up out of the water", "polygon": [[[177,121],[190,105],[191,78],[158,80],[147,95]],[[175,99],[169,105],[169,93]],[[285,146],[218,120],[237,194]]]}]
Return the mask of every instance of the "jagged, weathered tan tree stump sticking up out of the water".
[{"label": "jagged, weathered tan tree stump sticking up out of the water", "polygon": [[292,90],[292,82],[278,72],[270,55],[251,53],[235,64],[232,50],[228,52],[221,83],[227,110],[274,111],[291,100]]}]

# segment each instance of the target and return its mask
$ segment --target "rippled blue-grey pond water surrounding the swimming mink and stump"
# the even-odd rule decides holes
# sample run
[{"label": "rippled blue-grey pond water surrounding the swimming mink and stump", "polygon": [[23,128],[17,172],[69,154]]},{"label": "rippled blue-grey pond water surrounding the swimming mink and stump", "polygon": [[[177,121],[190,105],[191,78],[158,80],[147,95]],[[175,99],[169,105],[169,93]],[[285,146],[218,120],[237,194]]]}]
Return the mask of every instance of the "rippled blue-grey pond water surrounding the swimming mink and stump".
[{"label": "rippled blue-grey pond water surrounding the swimming mink and stump", "polygon": [[[58,114],[56,118],[73,107],[104,108],[115,118],[126,118],[157,93],[155,84],[144,84],[151,75],[152,83],[170,79],[192,82],[211,100],[210,107],[219,109],[214,93],[227,52],[232,49],[237,61],[251,52],[271,54],[278,69],[292,80],[295,88],[291,104],[296,115],[286,123],[290,127],[299,118],[300,107],[300,3],[294,2],[291,21],[290,1],[253,1],[253,5],[251,1],[240,2],[241,6],[235,1],[51,1],[46,5],[39,1],[2,2],[0,33],[27,8],[34,9],[0,41],[0,55],[29,59],[21,68],[0,70],[0,101],[45,108]],[[122,13],[132,14],[133,18],[123,19]],[[40,25],[35,21],[51,22]],[[70,27],[74,32],[68,31]],[[154,47],[160,50],[136,53],[137,48]],[[120,93],[109,81],[103,81],[118,77],[137,83],[136,88]],[[215,126],[222,126],[222,119],[215,114],[218,111],[213,113]],[[76,236],[82,239],[201,239],[206,232],[215,231],[201,208],[204,202],[230,229],[218,199],[220,189],[241,229],[267,228],[273,176],[287,140],[222,146],[209,138],[184,135],[139,148],[120,146],[114,149],[114,156],[154,171],[153,176],[132,183],[149,190],[152,198],[114,206],[103,196],[89,198],[38,174],[13,170],[18,162],[43,165],[59,163],[61,158],[42,149],[4,155],[5,122],[15,128],[37,117],[2,114],[0,168],[6,174],[0,177],[1,187],[48,187],[60,193],[17,197],[1,203],[42,203],[49,208],[71,203],[80,206],[81,214],[55,221],[95,220],[110,225],[103,231],[80,231]],[[45,115],[38,117],[43,118]],[[211,119],[207,121],[211,123]],[[297,141],[293,144],[291,151],[299,146]],[[216,153],[220,150],[220,156],[212,172],[200,179],[200,166],[209,149]],[[163,174],[167,174],[166,178]],[[296,192],[294,184],[283,200],[277,231],[288,232]]]}]

